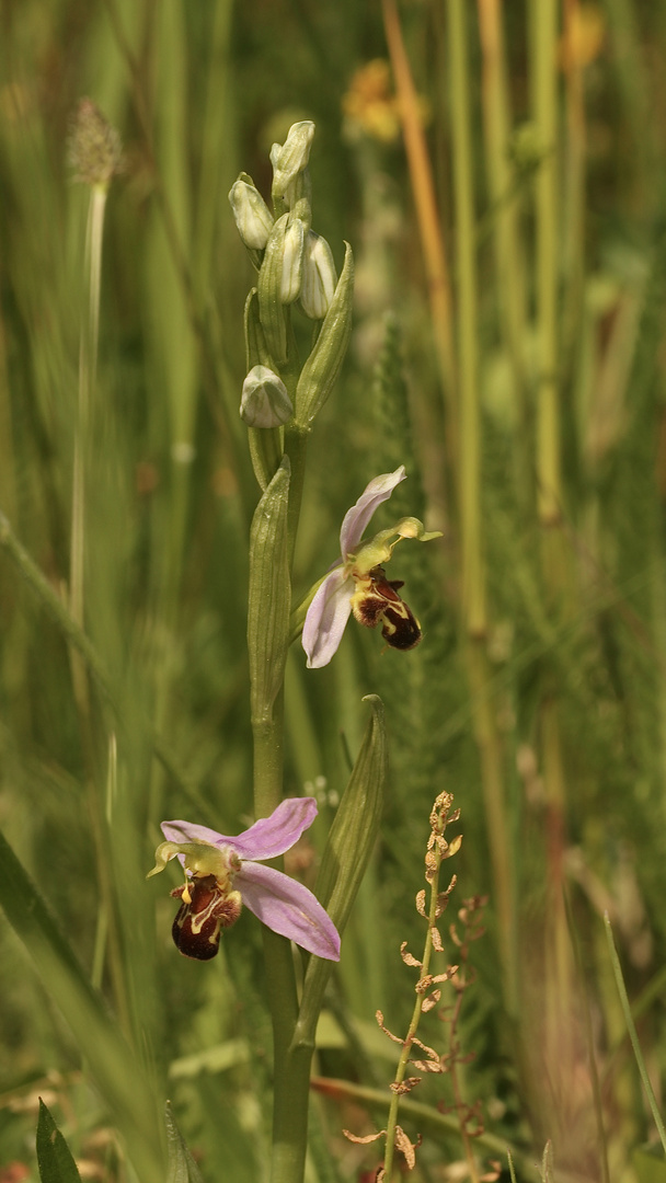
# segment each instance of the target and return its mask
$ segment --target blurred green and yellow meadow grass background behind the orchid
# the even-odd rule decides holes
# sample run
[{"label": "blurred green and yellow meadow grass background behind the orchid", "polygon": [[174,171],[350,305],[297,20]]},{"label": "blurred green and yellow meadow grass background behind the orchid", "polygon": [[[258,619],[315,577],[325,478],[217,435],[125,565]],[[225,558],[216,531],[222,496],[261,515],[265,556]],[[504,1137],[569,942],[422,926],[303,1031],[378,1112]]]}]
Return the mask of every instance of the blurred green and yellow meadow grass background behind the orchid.
[{"label": "blurred green and yellow meadow grass background behind the orchid", "polygon": [[[639,1150],[654,1131],[602,914],[659,1099],[666,6],[4,0],[0,17],[0,826],[109,1007],[79,1006],[66,955],[49,961],[20,909],[2,925],[0,1181],[37,1179],[38,1094],[86,1178],[135,1178],[123,1148],[140,1161],[151,1098],[167,1097],[205,1179],[267,1177],[259,925],[244,913],[215,962],[190,963],[167,885],[144,875],[161,819],[233,834],[252,817],[259,491],[238,403],[254,272],[226,195],[243,169],[269,198],[270,147],[304,118],[315,228],[338,266],[351,243],[357,272],[351,347],[310,445],[295,599],[336,558],[367,481],[399,464],[409,480],[379,525],[413,513],[444,535],[392,564],[418,649],[382,652],[350,626],[323,671],[299,644],[290,655],[285,790],[321,804],[291,862],[306,883],[363,694],[384,699],[392,746],[316,1071],[384,1092],[393,1079],[374,1014],[407,1027],[400,944],[418,956],[414,896],[446,789],[464,833],[451,907],[489,896],[455,1030],[473,1055],[465,1104],[528,1165],[551,1139],[562,1179],[662,1179]],[[83,96],[123,142],[84,427],[90,189],[67,149]],[[110,693],[57,619],[77,448],[80,619]],[[9,914],[12,890],[30,903],[12,867]],[[455,957],[450,944],[442,964]],[[450,1051],[435,1015],[420,1034]],[[465,1118],[450,1073],[410,1099]],[[407,1111],[402,1124],[422,1129]],[[315,1097],[311,1125],[312,1183],[376,1163],[377,1146],[341,1134],[375,1127],[351,1093]],[[484,1163],[502,1158],[489,1148]],[[428,1130],[413,1177],[459,1178],[463,1157],[455,1132]]]}]

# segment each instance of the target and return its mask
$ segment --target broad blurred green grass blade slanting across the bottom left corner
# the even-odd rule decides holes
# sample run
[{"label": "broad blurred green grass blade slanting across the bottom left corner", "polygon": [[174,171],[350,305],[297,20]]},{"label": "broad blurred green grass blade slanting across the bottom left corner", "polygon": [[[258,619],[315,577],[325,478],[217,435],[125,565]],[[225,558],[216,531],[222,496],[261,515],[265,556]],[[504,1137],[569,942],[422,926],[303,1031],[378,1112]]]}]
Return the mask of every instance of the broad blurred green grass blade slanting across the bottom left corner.
[{"label": "broad blurred green grass blade slanting across the bottom left corner", "polygon": [[163,1183],[157,1108],[142,1067],[2,834],[0,904],[84,1053],[88,1069],[123,1134],[137,1176],[142,1183]]}]

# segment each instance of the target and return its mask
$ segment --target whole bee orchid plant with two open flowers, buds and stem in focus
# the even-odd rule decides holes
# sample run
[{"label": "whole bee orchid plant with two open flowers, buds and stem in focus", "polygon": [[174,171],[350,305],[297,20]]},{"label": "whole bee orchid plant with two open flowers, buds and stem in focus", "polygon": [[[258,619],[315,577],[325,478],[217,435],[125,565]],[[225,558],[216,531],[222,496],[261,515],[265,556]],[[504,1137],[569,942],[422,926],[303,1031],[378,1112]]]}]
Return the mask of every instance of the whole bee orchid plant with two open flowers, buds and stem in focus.
[{"label": "whole bee orchid plant with two open flowers, buds and stem in focus", "polygon": [[[311,227],[308,161],[315,127],[295,124],[273,144],[272,208],[243,173],[229,193],[240,237],[258,271],[245,311],[246,379],[240,414],[263,496],[250,536],[247,641],[254,745],[253,826],[229,838],[188,821],[164,821],[155,867],[177,859],[185,883],[173,924],[177,949],[209,962],[220,936],[245,904],[263,922],[266,987],[274,1037],[273,1153],[271,1183],[302,1183],[308,1142],[310,1060],[317,1019],[340,937],[370,858],[382,813],[387,776],[383,709],[370,696],[373,718],[325,845],[312,893],[265,860],[279,859],[312,823],[312,797],[284,800],[284,673],[290,641],[291,563],[298,528],[308,437],[335,386],[351,329],[354,258],[345,246],[340,278],[325,239]],[[291,318],[318,322],[312,348],[300,360]],[[418,518],[405,517],[363,541],[364,531],[393,490],[403,466],[367,485],[348,511],[340,558],[311,599],[303,627],[308,666],[334,657],[347,621],[381,625],[389,646],[410,649],[420,625],[388,580],[401,538],[437,537]],[[290,942],[310,955],[297,990]]]}]

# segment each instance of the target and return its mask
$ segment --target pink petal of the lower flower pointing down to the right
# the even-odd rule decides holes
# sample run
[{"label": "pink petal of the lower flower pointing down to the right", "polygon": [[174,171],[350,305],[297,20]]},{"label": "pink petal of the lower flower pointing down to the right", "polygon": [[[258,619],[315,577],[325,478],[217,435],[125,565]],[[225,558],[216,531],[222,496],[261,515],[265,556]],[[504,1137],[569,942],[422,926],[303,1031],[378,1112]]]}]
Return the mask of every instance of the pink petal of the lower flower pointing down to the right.
[{"label": "pink petal of the lower flower pointing down to the right", "polygon": [[263,924],[295,940],[302,949],[340,961],[340,936],[328,912],[308,887],[282,871],[258,862],[244,862],[234,886]]}]

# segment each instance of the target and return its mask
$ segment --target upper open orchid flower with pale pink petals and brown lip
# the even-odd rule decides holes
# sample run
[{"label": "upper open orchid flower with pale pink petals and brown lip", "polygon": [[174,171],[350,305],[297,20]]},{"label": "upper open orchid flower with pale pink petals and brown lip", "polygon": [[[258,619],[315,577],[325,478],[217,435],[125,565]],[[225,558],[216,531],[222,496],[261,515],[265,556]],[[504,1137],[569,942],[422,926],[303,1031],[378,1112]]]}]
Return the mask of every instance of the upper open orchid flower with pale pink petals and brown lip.
[{"label": "upper open orchid flower with pale pink petals and brown lip", "polygon": [[303,625],[303,648],[311,670],[329,664],[351,613],[368,628],[381,623],[382,636],[393,648],[413,649],[421,640],[421,626],[399,595],[402,581],[387,580],[382,564],[389,561],[400,538],[427,542],[441,537],[440,531],[427,532],[422,522],[407,517],[368,542],[361,542],[377,506],[388,500],[406,476],[405,465],[401,465],[395,472],[375,477],[344,516],[340,531],[341,557],[317,589]]}]

